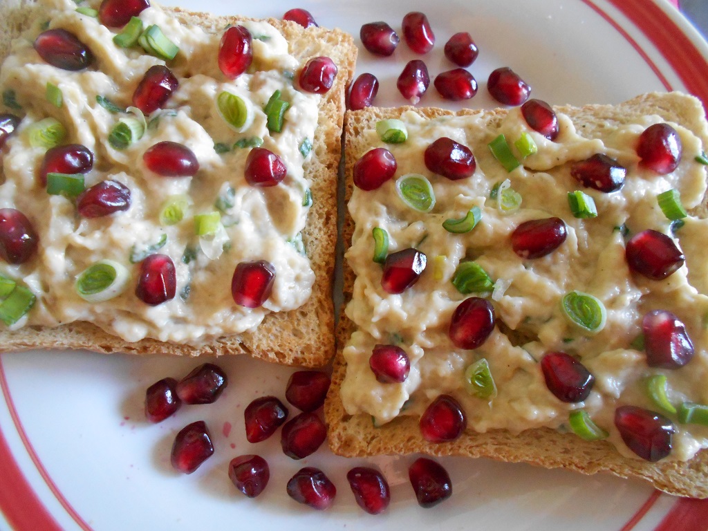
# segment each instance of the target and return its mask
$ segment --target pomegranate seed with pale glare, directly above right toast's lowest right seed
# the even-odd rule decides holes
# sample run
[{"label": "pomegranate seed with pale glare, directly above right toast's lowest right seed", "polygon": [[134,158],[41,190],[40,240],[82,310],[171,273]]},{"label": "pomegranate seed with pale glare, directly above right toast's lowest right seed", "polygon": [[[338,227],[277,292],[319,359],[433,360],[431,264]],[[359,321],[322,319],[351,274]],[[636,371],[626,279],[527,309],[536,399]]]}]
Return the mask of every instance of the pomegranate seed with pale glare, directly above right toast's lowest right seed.
[{"label": "pomegranate seed with pale glare, directly above right toast's lowest right seed", "polygon": [[661,369],[678,369],[693,358],[693,343],[677,316],[653,310],[641,321],[646,364]]}]

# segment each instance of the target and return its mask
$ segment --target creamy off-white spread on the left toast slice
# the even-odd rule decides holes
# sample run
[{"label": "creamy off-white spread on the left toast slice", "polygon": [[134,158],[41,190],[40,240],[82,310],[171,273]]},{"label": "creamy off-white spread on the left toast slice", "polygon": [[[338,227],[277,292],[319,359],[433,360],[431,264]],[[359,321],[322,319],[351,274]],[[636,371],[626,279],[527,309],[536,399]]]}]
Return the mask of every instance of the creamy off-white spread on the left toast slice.
[{"label": "creamy off-white spread on the left toast slice", "polygon": [[[91,7],[98,8],[98,4],[93,2]],[[253,35],[253,64],[231,81],[217,64],[225,28],[206,31],[180,23],[159,6],[145,9],[139,15],[144,27],[159,25],[179,47],[176,58],[165,63],[139,46],[116,46],[113,36],[117,31],[101,25],[98,18],[76,12],[72,0],[45,0],[42,14],[47,25],[40,28],[44,21],[39,21],[13,42],[0,72],[0,86],[14,91],[23,107],[21,124],[8,139],[2,156],[6,181],[0,185],[0,207],[21,210],[33,223],[40,242],[37,255],[28,263],[0,266],[2,274],[23,282],[37,297],[28,319],[19,324],[56,326],[90,321],[127,341],[150,337],[196,344],[254,329],[268,312],[301,306],[311,293],[314,273],[302,244],[297,244],[309,210],[309,205],[303,205],[309,188],[303,171],[305,157],[298,148],[304,139],[312,141],[314,137],[320,97],[294,88],[292,76],[301,65],[290,55],[278,30],[267,23],[243,23]],[[81,72],[69,72],[42,61],[33,41],[45,28],[74,33],[91,50],[94,64]],[[118,115],[99,105],[96,96],[123,108],[132,105],[137,84],[156,64],[171,69],[179,88],[161,110],[146,117],[149,126],[142,139],[127,149],[114,149],[108,135]],[[62,92],[61,108],[46,101],[47,83]],[[282,132],[270,134],[263,106],[276,90],[290,108]],[[219,115],[216,102],[222,91],[251,102],[254,120],[246,130],[234,131]],[[76,215],[72,200],[48,195],[42,189],[35,175],[46,149],[31,147],[25,131],[47,117],[57,118],[67,128],[64,144],[83,144],[93,152],[86,188],[108,179],[122,183],[131,191],[128,210],[85,219]],[[287,176],[278,185],[254,188],[246,183],[248,147],[234,147],[226,153],[215,150],[215,144],[231,147],[239,139],[251,137],[263,139],[263,147],[285,163]],[[200,164],[195,176],[165,178],[147,169],[144,152],[167,140],[192,150]],[[235,193],[234,205],[222,213],[225,236],[221,234],[217,244],[199,241],[192,215],[215,211],[217,198],[229,187]],[[191,215],[177,224],[161,224],[159,214],[165,200],[179,194],[187,195],[193,203]],[[146,248],[165,234],[166,244],[156,252],[172,258],[178,296],[152,307],[135,296],[139,264],[131,264],[129,256],[133,246]],[[215,245],[219,249],[215,250]],[[196,257],[185,263],[188,249],[196,249]],[[104,259],[126,265],[131,283],[122,295],[107,302],[86,302],[74,289],[76,276]],[[243,261],[258,260],[275,268],[272,295],[263,307],[238,306],[231,292],[234,268]]]}]

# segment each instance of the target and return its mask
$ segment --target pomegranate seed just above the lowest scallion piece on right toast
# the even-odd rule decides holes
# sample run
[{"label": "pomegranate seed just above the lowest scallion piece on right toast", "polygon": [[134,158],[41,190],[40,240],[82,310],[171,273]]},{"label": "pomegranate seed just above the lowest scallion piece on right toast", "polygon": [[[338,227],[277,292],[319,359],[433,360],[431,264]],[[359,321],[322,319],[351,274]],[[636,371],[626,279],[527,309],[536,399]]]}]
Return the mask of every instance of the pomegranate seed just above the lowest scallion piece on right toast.
[{"label": "pomegranate seed just above the lowest scallion piece on right toast", "polygon": [[581,362],[564,352],[549,352],[541,358],[546,387],[564,402],[582,402],[595,384],[595,377]]}]

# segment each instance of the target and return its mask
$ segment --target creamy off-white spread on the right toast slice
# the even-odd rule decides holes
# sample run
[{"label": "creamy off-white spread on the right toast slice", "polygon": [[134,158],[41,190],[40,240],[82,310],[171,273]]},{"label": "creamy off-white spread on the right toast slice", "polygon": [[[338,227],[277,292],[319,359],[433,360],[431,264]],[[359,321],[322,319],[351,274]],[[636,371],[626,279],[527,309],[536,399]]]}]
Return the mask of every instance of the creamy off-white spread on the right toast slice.
[{"label": "creamy off-white spread on the right toast slice", "polygon": [[[683,142],[683,159],[673,173],[661,176],[642,169],[635,151],[639,135],[660,122],[658,116],[603,132],[600,139],[583,137],[567,116],[558,118],[560,134],[555,142],[530,130],[518,108],[491,130],[479,115],[425,119],[407,112],[401,118],[409,134],[403,144],[384,144],[375,130],[360,133],[371,147],[389,149],[398,168],[394,178],[377,190],[355,188],[348,204],[356,228],[346,259],[356,280],[346,315],[358,331],[344,349],[347,372],[341,397],[347,413],[367,413],[375,423],[386,423],[399,415],[420,415],[436,396],[451,394],[462,404],[469,430],[519,433],[544,426],[568,430],[569,412],[585,409],[598,426],[610,432],[609,440],[620,452],[636,457],[622,442],[614,415],[623,404],[656,410],[644,391],[644,377],[666,375],[672,401],[708,403],[708,331],[704,325],[708,220],[685,219],[685,226],[676,232],[685,265],[663,281],[630,273],[624,237],[618,230],[624,226],[634,234],[655,229],[672,236],[656,195],[676,188],[685,207],[700,204],[706,190],[705,166],[695,161],[702,150],[700,140],[680,125],[670,124]],[[487,144],[500,133],[512,144],[524,132],[535,140],[538,152],[507,173]],[[423,152],[439,137],[450,137],[472,149],[477,164],[474,175],[450,181],[426,169]],[[583,188],[571,176],[569,163],[596,153],[607,154],[627,168],[621,191]],[[394,181],[406,173],[419,173],[432,183],[436,202],[431,212],[413,210],[396,195]],[[493,185],[505,179],[523,198],[520,209],[510,215],[489,199]],[[571,215],[567,194],[573,190],[593,197],[598,217]],[[481,208],[482,218],[471,232],[450,234],[442,227],[445,219],[464,217],[473,206]],[[511,248],[510,233],[521,222],[547,217],[564,219],[566,241],[544,258],[521,259]],[[382,289],[382,268],[372,261],[374,227],[387,231],[389,253],[413,247],[428,258],[416,285],[401,295]],[[491,302],[497,326],[481,347],[461,350],[448,337],[450,319],[457,305],[475,294],[462,295],[450,280],[457,265],[469,260],[496,281]],[[604,303],[607,322],[602,331],[583,333],[565,318],[560,300],[571,290],[589,293]],[[630,346],[641,333],[642,316],[653,309],[673,312],[687,327],[695,358],[685,367],[650,369],[644,353]],[[409,355],[411,372],[404,383],[377,382],[369,358],[378,343],[396,344]],[[595,376],[588,399],[566,404],[549,391],[539,367],[540,358],[549,351],[578,356]],[[472,396],[464,387],[465,368],[479,358],[489,362],[498,389],[491,401]],[[688,459],[704,447],[708,447],[708,428],[679,424],[670,458]]]}]

